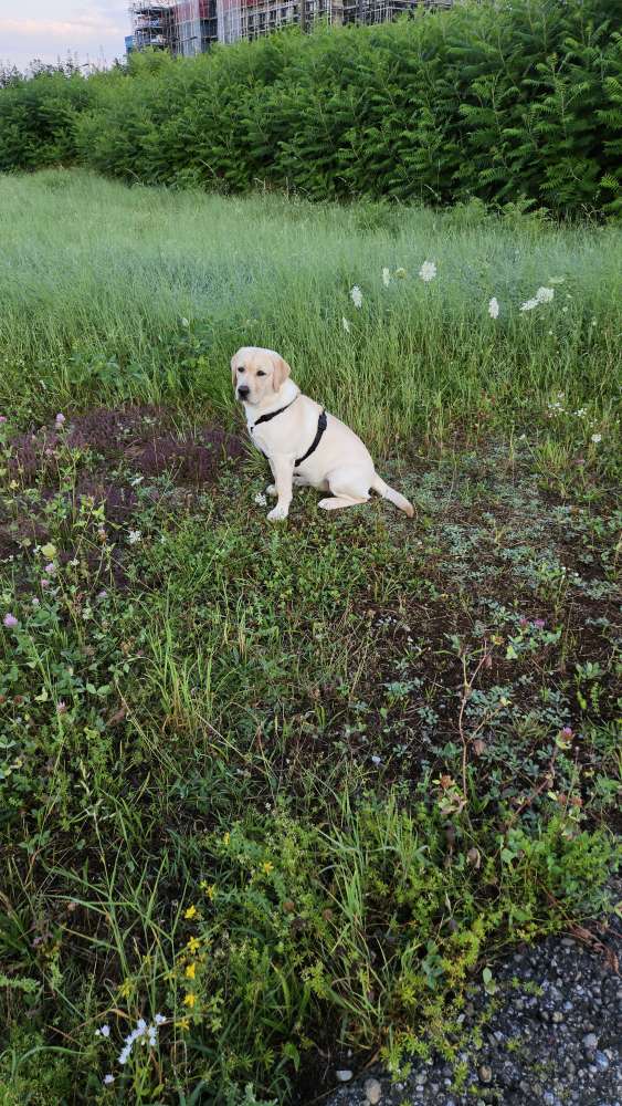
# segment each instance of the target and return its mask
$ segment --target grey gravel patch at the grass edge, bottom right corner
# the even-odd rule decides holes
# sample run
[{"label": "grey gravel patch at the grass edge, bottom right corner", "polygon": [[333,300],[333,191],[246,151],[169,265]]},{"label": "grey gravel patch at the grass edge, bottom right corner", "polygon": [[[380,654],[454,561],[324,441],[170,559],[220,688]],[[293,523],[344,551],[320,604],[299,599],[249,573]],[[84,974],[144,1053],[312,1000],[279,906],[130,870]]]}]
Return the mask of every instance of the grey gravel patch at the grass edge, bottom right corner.
[{"label": "grey gravel patch at the grass edge, bottom right corner", "polygon": [[[622,940],[610,932],[607,943],[622,961]],[[460,1055],[462,1087],[454,1065],[435,1056],[393,1086],[379,1070],[355,1071],[323,1106],[622,1106],[622,978],[602,956],[551,938],[515,952],[495,980],[494,998],[479,985],[466,1008],[466,1041],[491,1018],[482,1046]]]}]

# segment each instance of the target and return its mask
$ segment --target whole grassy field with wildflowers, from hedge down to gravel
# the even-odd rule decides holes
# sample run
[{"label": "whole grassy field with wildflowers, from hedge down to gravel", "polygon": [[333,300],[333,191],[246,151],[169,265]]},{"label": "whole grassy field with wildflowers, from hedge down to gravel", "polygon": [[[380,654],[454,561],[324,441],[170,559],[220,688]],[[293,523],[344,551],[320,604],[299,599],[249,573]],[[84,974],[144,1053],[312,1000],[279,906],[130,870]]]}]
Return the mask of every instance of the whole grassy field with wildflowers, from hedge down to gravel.
[{"label": "whole grassy field with wildflowers, from hedge down to gravel", "polygon": [[[62,170],[0,221],[2,1106],[457,1085],[495,957],[612,908],[620,231]],[[266,523],[243,343],[413,522]]]}]

